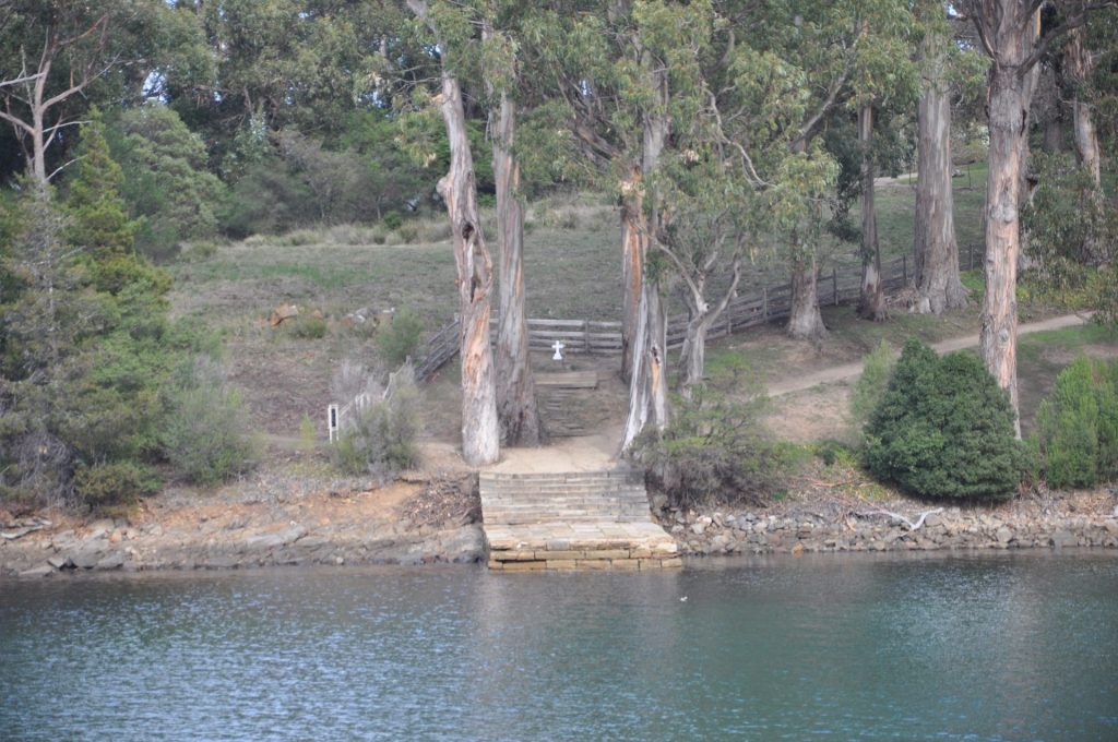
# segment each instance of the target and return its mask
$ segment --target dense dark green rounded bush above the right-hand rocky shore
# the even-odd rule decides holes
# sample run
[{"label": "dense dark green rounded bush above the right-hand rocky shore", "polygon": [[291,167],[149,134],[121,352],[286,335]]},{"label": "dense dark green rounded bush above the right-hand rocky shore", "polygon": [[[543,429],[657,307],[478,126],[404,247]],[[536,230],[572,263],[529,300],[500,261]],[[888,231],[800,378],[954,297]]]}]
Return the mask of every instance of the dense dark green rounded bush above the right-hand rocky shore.
[{"label": "dense dark green rounded bush above the right-hand rocky shore", "polygon": [[910,340],[865,427],[865,460],[921,497],[1005,498],[1025,467],[1008,394],[977,355]]}]

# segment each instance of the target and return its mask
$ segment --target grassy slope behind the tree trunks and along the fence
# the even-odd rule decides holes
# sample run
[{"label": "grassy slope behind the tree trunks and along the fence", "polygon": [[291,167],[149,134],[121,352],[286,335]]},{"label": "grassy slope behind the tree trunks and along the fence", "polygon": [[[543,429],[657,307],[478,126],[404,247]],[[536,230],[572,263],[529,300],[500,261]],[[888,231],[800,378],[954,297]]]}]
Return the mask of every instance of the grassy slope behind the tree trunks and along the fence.
[{"label": "grassy slope behind the tree trunks and along the fence", "polygon": [[[980,239],[985,169],[972,165],[969,182],[966,177],[955,181],[961,245]],[[903,179],[879,185],[879,229],[887,256],[911,251],[913,203],[913,188]],[[491,212],[483,213],[483,223],[491,219]],[[233,380],[244,389],[257,425],[295,436],[304,412],[312,420],[321,418],[340,360],[376,358],[373,336],[347,326],[347,313],[408,307],[434,330],[455,311],[454,260],[445,225],[433,217],[413,229],[428,241],[399,244],[398,236],[377,228],[334,228],[222,246],[212,257],[172,266],[174,311],[224,333]],[[386,238],[388,244],[375,244]],[[530,316],[618,318],[619,238],[616,213],[600,200],[533,206],[524,256]],[[824,254],[856,264],[853,245],[831,244]],[[751,266],[746,279],[752,285],[784,280],[778,261]],[[265,320],[280,303],[321,310],[328,317],[326,335],[301,339],[268,326]],[[770,326],[713,343],[710,362],[717,365],[729,354],[746,354],[768,377],[809,372],[858,360],[882,337],[900,346],[910,334],[934,342],[977,329],[974,307],[942,318],[899,312],[880,324],[854,318],[849,307],[826,307],[824,314],[831,333],[822,345],[789,341]],[[433,397],[438,405],[453,406],[447,394]]]}]

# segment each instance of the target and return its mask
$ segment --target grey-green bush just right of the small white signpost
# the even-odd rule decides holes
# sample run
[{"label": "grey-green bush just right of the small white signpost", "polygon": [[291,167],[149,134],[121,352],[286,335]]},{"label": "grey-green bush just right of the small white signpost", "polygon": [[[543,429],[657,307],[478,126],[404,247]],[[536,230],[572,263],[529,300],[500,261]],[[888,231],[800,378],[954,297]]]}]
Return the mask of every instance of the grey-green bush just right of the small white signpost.
[{"label": "grey-green bush just right of the small white signpost", "polygon": [[[342,378],[344,377],[344,378]],[[340,420],[341,435],[333,449],[334,464],[348,474],[371,474],[387,481],[418,459],[419,390],[410,365],[388,378],[385,391],[364,370],[343,364],[335,378],[338,389],[360,388],[367,394],[363,408],[354,405]],[[357,394],[342,397],[343,407]]]}]

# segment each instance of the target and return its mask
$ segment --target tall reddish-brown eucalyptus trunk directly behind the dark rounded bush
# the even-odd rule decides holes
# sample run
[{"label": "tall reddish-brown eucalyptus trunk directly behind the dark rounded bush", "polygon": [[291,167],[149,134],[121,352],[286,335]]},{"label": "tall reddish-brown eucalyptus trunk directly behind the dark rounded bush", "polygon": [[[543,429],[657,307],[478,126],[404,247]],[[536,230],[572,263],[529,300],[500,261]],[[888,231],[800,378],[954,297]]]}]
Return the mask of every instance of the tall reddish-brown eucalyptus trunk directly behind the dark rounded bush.
[{"label": "tall reddish-brown eucalyptus trunk directly behind the dark rounded bush", "polygon": [[[1053,22],[1041,26],[1041,0],[965,0],[989,69],[989,174],[986,182],[986,291],[979,351],[986,368],[1010,394],[1021,435],[1017,400],[1018,208],[1034,70],[1063,35],[1082,27],[1088,13],[1115,2],[1053,2]],[[1043,32],[1043,34],[1042,34]]]}]

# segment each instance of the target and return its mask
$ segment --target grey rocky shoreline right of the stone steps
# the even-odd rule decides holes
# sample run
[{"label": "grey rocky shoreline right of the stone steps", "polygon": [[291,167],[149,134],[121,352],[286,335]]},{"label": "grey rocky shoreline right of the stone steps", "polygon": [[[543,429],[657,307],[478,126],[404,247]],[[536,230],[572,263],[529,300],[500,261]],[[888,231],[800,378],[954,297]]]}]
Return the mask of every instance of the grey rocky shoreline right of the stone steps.
[{"label": "grey rocky shoreline right of the stone steps", "polygon": [[1118,548],[1118,497],[1065,496],[1003,507],[865,502],[766,510],[681,511],[654,500],[661,525],[689,555],[978,549]]}]

